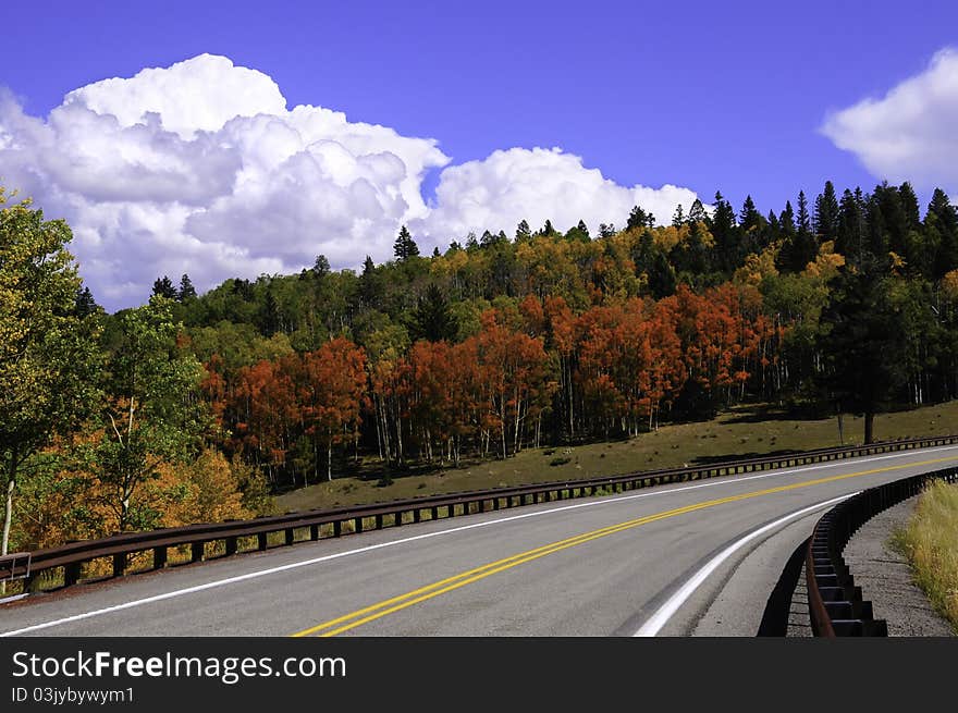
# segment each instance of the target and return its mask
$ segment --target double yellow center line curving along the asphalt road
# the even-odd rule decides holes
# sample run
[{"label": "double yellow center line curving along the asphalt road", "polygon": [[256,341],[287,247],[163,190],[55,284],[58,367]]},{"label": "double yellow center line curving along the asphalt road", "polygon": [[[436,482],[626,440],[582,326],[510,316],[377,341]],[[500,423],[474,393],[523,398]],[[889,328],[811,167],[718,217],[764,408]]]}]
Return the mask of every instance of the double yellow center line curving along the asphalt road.
[{"label": "double yellow center line curving along the asphalt road", "polygon": [[886,466],[884,468],[872,468],[870,470],[860,470],[858,472],[846,474],[844,476],[831,476],[828,478],[818,478],[815,480],[806,480],[802,482],[790,483],[787,485],[777,485],[775,488],[766,488],[764,490],[758,490],[750,493],[742,493],[740,495],[729,495],[727,497],[720,497],[716,500],[710,500],[702,503],[696,503],[693,505],[686,505],[684,507],[676,507],[674,509],[664,511],[661,513],[655,513],[652,515],[646,515],[643,517],[628,520],[626,523],[619,523],[617,525],[610,525],[607,527],[600,528],[598,530],[591,530],[589,532],[582,532],[581,534],[577,534],[575,537],[567,538],[565,540],[560,540],[557,542],[552,542],[550,544],[545,544],[533,550],[528,550],[526,552],[520,552],[518,554],[514,554],[509,557],[505,557],[503,560],[496,560],[495,562],[490,562],[489,564],[484,564],[481,567],[476,567],[474,569],[469,569],[467,571],[459,573],[453,577],[447,577],[437,582],[432,582],[431,585],[427,585],[426,587],[420,587],[419,589],[414,589],[410,592],[406,592],[405,594],[401,594],[398,597],[393,597],[391,599],[384,600],[382,602],[378,602],[377,604],[372,604],[370,606],[366,606],[364,608],[357,610],[355,612],[351,612],[349,614],[345,614],[343,616],[339,616],[334,619],[330,619],[328,622],[323,622],[322,624],[318,624],[308,629],[304,629],[302,631],[297,631],[293,634],[294,637],[305,637],[310,635],[318,635],[323,637],[332,637],[339,634],[343,634],[344,631],[348,631],[349,629],[354,629],[364,624],[368,624],[369,622],[373,622],[376,619],[382,618],[389,614],[394,612],[398,612],[401,610],[407,608],[420,602],[425,602],[434,597],[439,597],[440,594],[444,594],[446,592],[451,592],[453,590],[459,589],[460,587],[465,587],[466,585],[470,585],[472,582],[479,581],[480,579],[484,579],[500,571],[505,571],[506,569],[512,569],[513,567],[517,567],[521,564],[526,564],[527,562],[532,562],[535,560],[539,560],[540,557],[544,557],[546,555],[553,554],[555,552],[561,552],[562,550],[567,550],[568,548],[574,548],[579,544],[584,544],[586,542],[591,542],[592,540],[598,540],[600,538],[607,537],[610,534],[615,534],[617,532],[622,532],[624,530],[629,530],[636,527],[640,527],[642,525],[648,525],[649,523],[654,523],[656,520],[663,520],[670,517],[676,517],[678,515],[685,515],[687,513],[693,513],[696,511],[705,509],[708,507],[715,507],[716,505],[724,505],[726,503],[734,503],[742,500],[750,500],[752,497],[760,497],[762,495],[771,495],[774,493],[786,492],[789,490],[797,490],[800,488],[811,488],[813,485],[821,485],[828,482],[836,482],[839,480],[847,480],[849,478],[860,478],[862,476],[874,475],[879,472],[888,472],[891,470],[901,470],[902,468],[913,468],[917,466],[926,466],[933,465],[937,463],[945,463],[948,460],[958,460],[958,456],[950,456],[947,458],[935,458],[933,460],[922,460],[920,463],[909,463],[905,465],[898,466]]}]

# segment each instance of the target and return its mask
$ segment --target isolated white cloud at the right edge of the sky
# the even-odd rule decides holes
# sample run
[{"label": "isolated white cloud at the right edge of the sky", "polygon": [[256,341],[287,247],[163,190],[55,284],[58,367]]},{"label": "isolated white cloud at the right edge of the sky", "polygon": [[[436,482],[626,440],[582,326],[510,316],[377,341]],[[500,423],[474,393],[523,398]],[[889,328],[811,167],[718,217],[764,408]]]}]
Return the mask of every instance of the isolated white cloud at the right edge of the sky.
[{"label": "isolated white cloud at the right edge of the sky", "polygon": [[937,52],[928,69],[883,98],[831,113],[822,133],[852,151],[881,179],[958,189],[958,49]]}]

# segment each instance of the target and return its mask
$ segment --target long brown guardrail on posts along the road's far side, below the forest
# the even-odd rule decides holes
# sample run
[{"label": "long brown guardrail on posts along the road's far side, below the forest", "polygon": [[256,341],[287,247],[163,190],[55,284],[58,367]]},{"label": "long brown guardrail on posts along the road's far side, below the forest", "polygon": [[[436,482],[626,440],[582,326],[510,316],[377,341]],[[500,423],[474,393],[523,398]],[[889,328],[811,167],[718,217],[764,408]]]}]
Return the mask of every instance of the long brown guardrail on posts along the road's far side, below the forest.
[{"label": "long brown guardrail on posts along the road's far side, below the forest", "polygon": [[[40,575],[60,569],[62,580],[56,580],[49,588],[70,587],[84,579],[84,566],[95,560],[108,561],[108,577],[122,577],[136,571],[163,569],[171,565],[170,548],[188,548],[186,562],[194,563],[216,556],[231,556],[241,552],[292,545],[297,542],[297,531],[300,533],[298,541],[307,539],[315,541],[329,537],[337,538],[348,532],[361,532],[364,529],[419,523],[423,519],[423,514],[428,514],[428,519],[439,519],[539,502],[582,497],[598,492],[623,492],[673,482],[955,443],[958,443],[958,435],[883,441],[870,445],[819,448],[686,468],[466,491],[335,509],[286,513],[250,520],[188,525],[147,532],[124,532],[100,540],[71,542],[62,546],[34,551],[29,553],[29,565],[26,568],[20,565],[11,566],[10,576],[25,579],[24,591],[38,591],[45,583]],[[269,536],[278,533],[282,533],[281,541],[270,543]],[[216,548],[217,552],[210,553],[207,551],[207,545],[210,543],[222,543],[222,545]],[[151,556],[140,557],[140,561],[148,560],[148,564],[138,562],[138,568],[131,569],[134,564],[132,557],[142,553],[148,555],[151,553]]]}]

